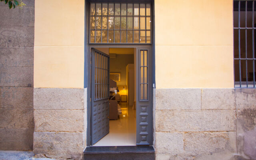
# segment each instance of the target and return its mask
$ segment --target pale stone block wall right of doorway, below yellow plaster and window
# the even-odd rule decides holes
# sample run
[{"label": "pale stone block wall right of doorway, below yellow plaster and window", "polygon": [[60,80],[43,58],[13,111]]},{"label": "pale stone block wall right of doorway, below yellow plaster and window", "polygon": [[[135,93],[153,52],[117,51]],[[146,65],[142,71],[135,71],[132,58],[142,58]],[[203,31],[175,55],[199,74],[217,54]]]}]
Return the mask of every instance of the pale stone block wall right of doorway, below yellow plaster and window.
[{"label": "pale stone block wall right of doorway, below yellow plaster and window", "polygon": [[256,89],[155,89],[156,160],[256,160]]}]

